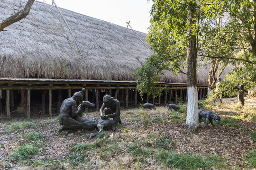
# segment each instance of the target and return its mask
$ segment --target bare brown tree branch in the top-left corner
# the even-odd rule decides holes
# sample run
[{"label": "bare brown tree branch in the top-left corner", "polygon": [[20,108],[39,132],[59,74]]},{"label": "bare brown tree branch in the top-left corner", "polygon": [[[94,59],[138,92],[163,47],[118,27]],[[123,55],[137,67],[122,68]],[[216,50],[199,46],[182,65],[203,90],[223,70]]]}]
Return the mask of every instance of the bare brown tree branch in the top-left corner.
[{"label": "bare brown tree branch in the top-left corner", "polygon": [[29,14],[29,11],[33,5],[35,0],[28,0],[26,6],[21,10],[15,13],[14,15],[6,18],[0,23],[0,31],[6,31],[4,30],[5,27],[18,22],[22,18],[26,17]]}]

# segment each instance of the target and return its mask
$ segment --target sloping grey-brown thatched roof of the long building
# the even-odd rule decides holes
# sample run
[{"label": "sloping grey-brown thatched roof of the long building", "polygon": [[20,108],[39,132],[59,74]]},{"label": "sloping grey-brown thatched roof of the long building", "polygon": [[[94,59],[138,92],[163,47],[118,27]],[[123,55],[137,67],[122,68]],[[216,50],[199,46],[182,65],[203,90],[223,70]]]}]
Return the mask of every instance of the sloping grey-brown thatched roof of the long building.
[{"label": "sloping grey-brown thatched roof of the long building", "polygon": [[[27,0],[0,0],[0,20]],[[82,50],[57,8],[35,1],[30,14],[0,32],[0,77],[134,81],[151,51],[146,34],[61,8]],[[125,21],[124,21],[125,22]],[[145,42],[146,44],[146,42]],[[186,83],[186,75],[165,72],[161,82]],[[208,83],[201,69],[198,83]]]}]

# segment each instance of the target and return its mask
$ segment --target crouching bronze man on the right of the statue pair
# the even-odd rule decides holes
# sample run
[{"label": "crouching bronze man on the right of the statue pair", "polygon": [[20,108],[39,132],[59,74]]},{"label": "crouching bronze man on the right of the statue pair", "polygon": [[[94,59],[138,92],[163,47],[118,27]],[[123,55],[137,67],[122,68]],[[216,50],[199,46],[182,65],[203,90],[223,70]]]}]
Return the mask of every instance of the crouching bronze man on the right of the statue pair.
[{"label": "crouching bronze man on the right of the statue pair", "polygon": [[[103,110],[105,112],[105,116],[103,115]],[[104,95],[100,113],[101,119],[113,118],[113,126],[117,123],[121,124],[120,103],[115,97],[111,97],[109,94]]]}]

